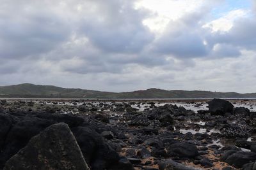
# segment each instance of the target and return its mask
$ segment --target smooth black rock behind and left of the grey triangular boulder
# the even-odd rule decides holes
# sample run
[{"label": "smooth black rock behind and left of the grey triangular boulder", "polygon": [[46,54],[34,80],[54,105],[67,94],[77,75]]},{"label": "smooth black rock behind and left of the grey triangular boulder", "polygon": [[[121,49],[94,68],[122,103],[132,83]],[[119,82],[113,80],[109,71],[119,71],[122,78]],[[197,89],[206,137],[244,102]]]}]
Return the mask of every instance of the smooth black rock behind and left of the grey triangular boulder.
[{"label": "smooth black rock behind and left of the grey triangular boulder", "polygon": [[83,118],[74,115],[60,115],[49,113],[12,112],[0,115],[0,168],[28,141],[46,127],[65,122],[70,127],[83,124]]}]

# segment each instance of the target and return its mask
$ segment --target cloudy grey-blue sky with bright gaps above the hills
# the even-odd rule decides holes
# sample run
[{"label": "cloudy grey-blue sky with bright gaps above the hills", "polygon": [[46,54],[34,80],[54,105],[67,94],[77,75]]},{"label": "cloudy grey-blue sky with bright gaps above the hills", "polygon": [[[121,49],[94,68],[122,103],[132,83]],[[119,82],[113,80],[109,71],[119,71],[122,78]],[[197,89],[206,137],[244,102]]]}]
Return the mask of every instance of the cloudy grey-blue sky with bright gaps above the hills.
[{"label": "cloudy grey-blue sky with bright gaps above the hills", "polygon": [[256,92],[254,0],[0,3],[0,85]]}]

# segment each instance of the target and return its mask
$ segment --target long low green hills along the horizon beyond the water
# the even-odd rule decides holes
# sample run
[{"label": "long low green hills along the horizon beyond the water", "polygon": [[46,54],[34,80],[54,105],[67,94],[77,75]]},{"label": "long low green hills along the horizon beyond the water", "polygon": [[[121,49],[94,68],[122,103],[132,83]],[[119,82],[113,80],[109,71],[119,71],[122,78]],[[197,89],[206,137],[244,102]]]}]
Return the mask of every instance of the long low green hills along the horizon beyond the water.
[{"label": "long low green hills along the horizon beyond the water", "polygon": [[186,90],[147,89],[134,92],[100,92],[95,90],[66,89],[52,85],[0,86],[0,97],[54,97],[84,99],[168,99],[168,98],[256,98],[256,93],[239,94],[236,92],[209,92]]}]

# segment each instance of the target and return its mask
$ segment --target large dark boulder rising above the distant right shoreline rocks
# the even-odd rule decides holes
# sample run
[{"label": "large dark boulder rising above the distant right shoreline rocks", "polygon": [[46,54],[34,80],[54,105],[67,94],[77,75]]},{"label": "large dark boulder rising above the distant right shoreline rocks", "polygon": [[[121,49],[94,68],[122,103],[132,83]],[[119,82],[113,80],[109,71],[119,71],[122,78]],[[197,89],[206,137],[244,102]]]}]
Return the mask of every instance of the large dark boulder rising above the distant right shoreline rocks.
[{"label": "large dark boulder rising above the distant right shoreline rocks", "polygon": [[213,115],[224,115],[225,113],[233,113],[233,104],[223,99],[213,99],[212,101],[209,101],[208,104],[209,111]]}]

